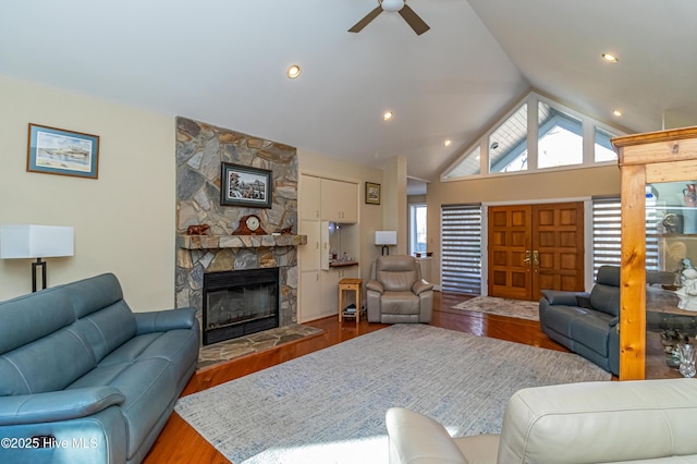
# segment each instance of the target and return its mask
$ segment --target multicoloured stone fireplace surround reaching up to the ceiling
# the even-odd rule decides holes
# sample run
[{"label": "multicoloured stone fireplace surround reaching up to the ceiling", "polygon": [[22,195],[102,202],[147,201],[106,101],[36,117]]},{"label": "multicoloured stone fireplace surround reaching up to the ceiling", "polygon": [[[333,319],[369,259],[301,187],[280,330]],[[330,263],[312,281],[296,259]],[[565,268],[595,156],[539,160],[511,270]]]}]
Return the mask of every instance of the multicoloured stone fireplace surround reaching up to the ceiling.
[{"label": "multicoloured stone fireplace surround reaching up to the ceiling", "polygon": [[[222,206],[222,162],[272,171],[271,208]],[[240,219],[250,213],[261,219],[262,229],[268,235],[232,234]],[[208,233],[187,235],[187,228],[196,224],[209,225]],[[280,234],[281,230],[285,230],[285,233]],[[205,329],[205,276],[276,269],[279,281],[277,325],[283,327],[295,323],[296,252],[297,246],[307,243],[307,237],[296,235],[296,231],[295,148],[185,118],[176,119],[176,307],[196,307],[201,328]],[[228,332],[235,335],[239,330],[230,329]],[[211,337],[211,343],[217,339],[217,334]]]}]

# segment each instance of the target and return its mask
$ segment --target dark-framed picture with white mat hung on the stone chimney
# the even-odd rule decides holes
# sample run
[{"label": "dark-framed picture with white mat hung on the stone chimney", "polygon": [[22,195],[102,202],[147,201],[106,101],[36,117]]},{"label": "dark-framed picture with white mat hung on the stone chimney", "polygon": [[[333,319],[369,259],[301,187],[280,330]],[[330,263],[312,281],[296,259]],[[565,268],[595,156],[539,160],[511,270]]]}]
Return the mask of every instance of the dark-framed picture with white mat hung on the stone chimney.
[{"label": "dark-framed picture with white mat hung on the stone chimney", "polygon": [[271,171],[223,162],[220,180],[222,206],[271,207]]}]

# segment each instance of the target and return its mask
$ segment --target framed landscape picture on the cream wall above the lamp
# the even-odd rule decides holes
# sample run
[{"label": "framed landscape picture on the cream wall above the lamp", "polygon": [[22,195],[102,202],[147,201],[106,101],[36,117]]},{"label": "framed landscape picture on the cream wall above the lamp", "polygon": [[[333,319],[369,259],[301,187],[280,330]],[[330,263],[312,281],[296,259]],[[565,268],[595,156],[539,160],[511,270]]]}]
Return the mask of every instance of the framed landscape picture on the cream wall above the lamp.
[{"label": "framed landscape picture on the cream wall above the lamp", "polygon": [[29,123],[26,170],[97,179],[99,136]]}]

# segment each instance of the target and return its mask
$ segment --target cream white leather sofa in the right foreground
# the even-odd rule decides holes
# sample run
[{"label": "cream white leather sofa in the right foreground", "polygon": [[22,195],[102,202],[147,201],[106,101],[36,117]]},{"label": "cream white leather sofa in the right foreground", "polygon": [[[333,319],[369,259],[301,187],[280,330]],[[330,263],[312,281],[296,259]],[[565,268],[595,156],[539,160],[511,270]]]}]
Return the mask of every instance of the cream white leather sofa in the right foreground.
[{"label": "cream white leather sofa in the right foreground", "polygon": [[402,407],[386,419],[391,464],[697,463],[697,379],[524,389],[500,435],[451,438]]}]

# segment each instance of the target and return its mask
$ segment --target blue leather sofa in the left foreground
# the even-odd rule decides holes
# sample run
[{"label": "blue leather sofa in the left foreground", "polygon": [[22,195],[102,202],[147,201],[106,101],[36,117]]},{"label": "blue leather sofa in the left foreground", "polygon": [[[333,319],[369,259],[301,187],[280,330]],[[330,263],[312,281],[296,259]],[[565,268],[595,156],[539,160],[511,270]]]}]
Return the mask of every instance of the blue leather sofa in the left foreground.
[{"label": "blue leather sofa in the left foreground", "polygon": [[111,273],[0,302],[0,462],[139,463],[198,350],[194,308],[133,313]]}]

